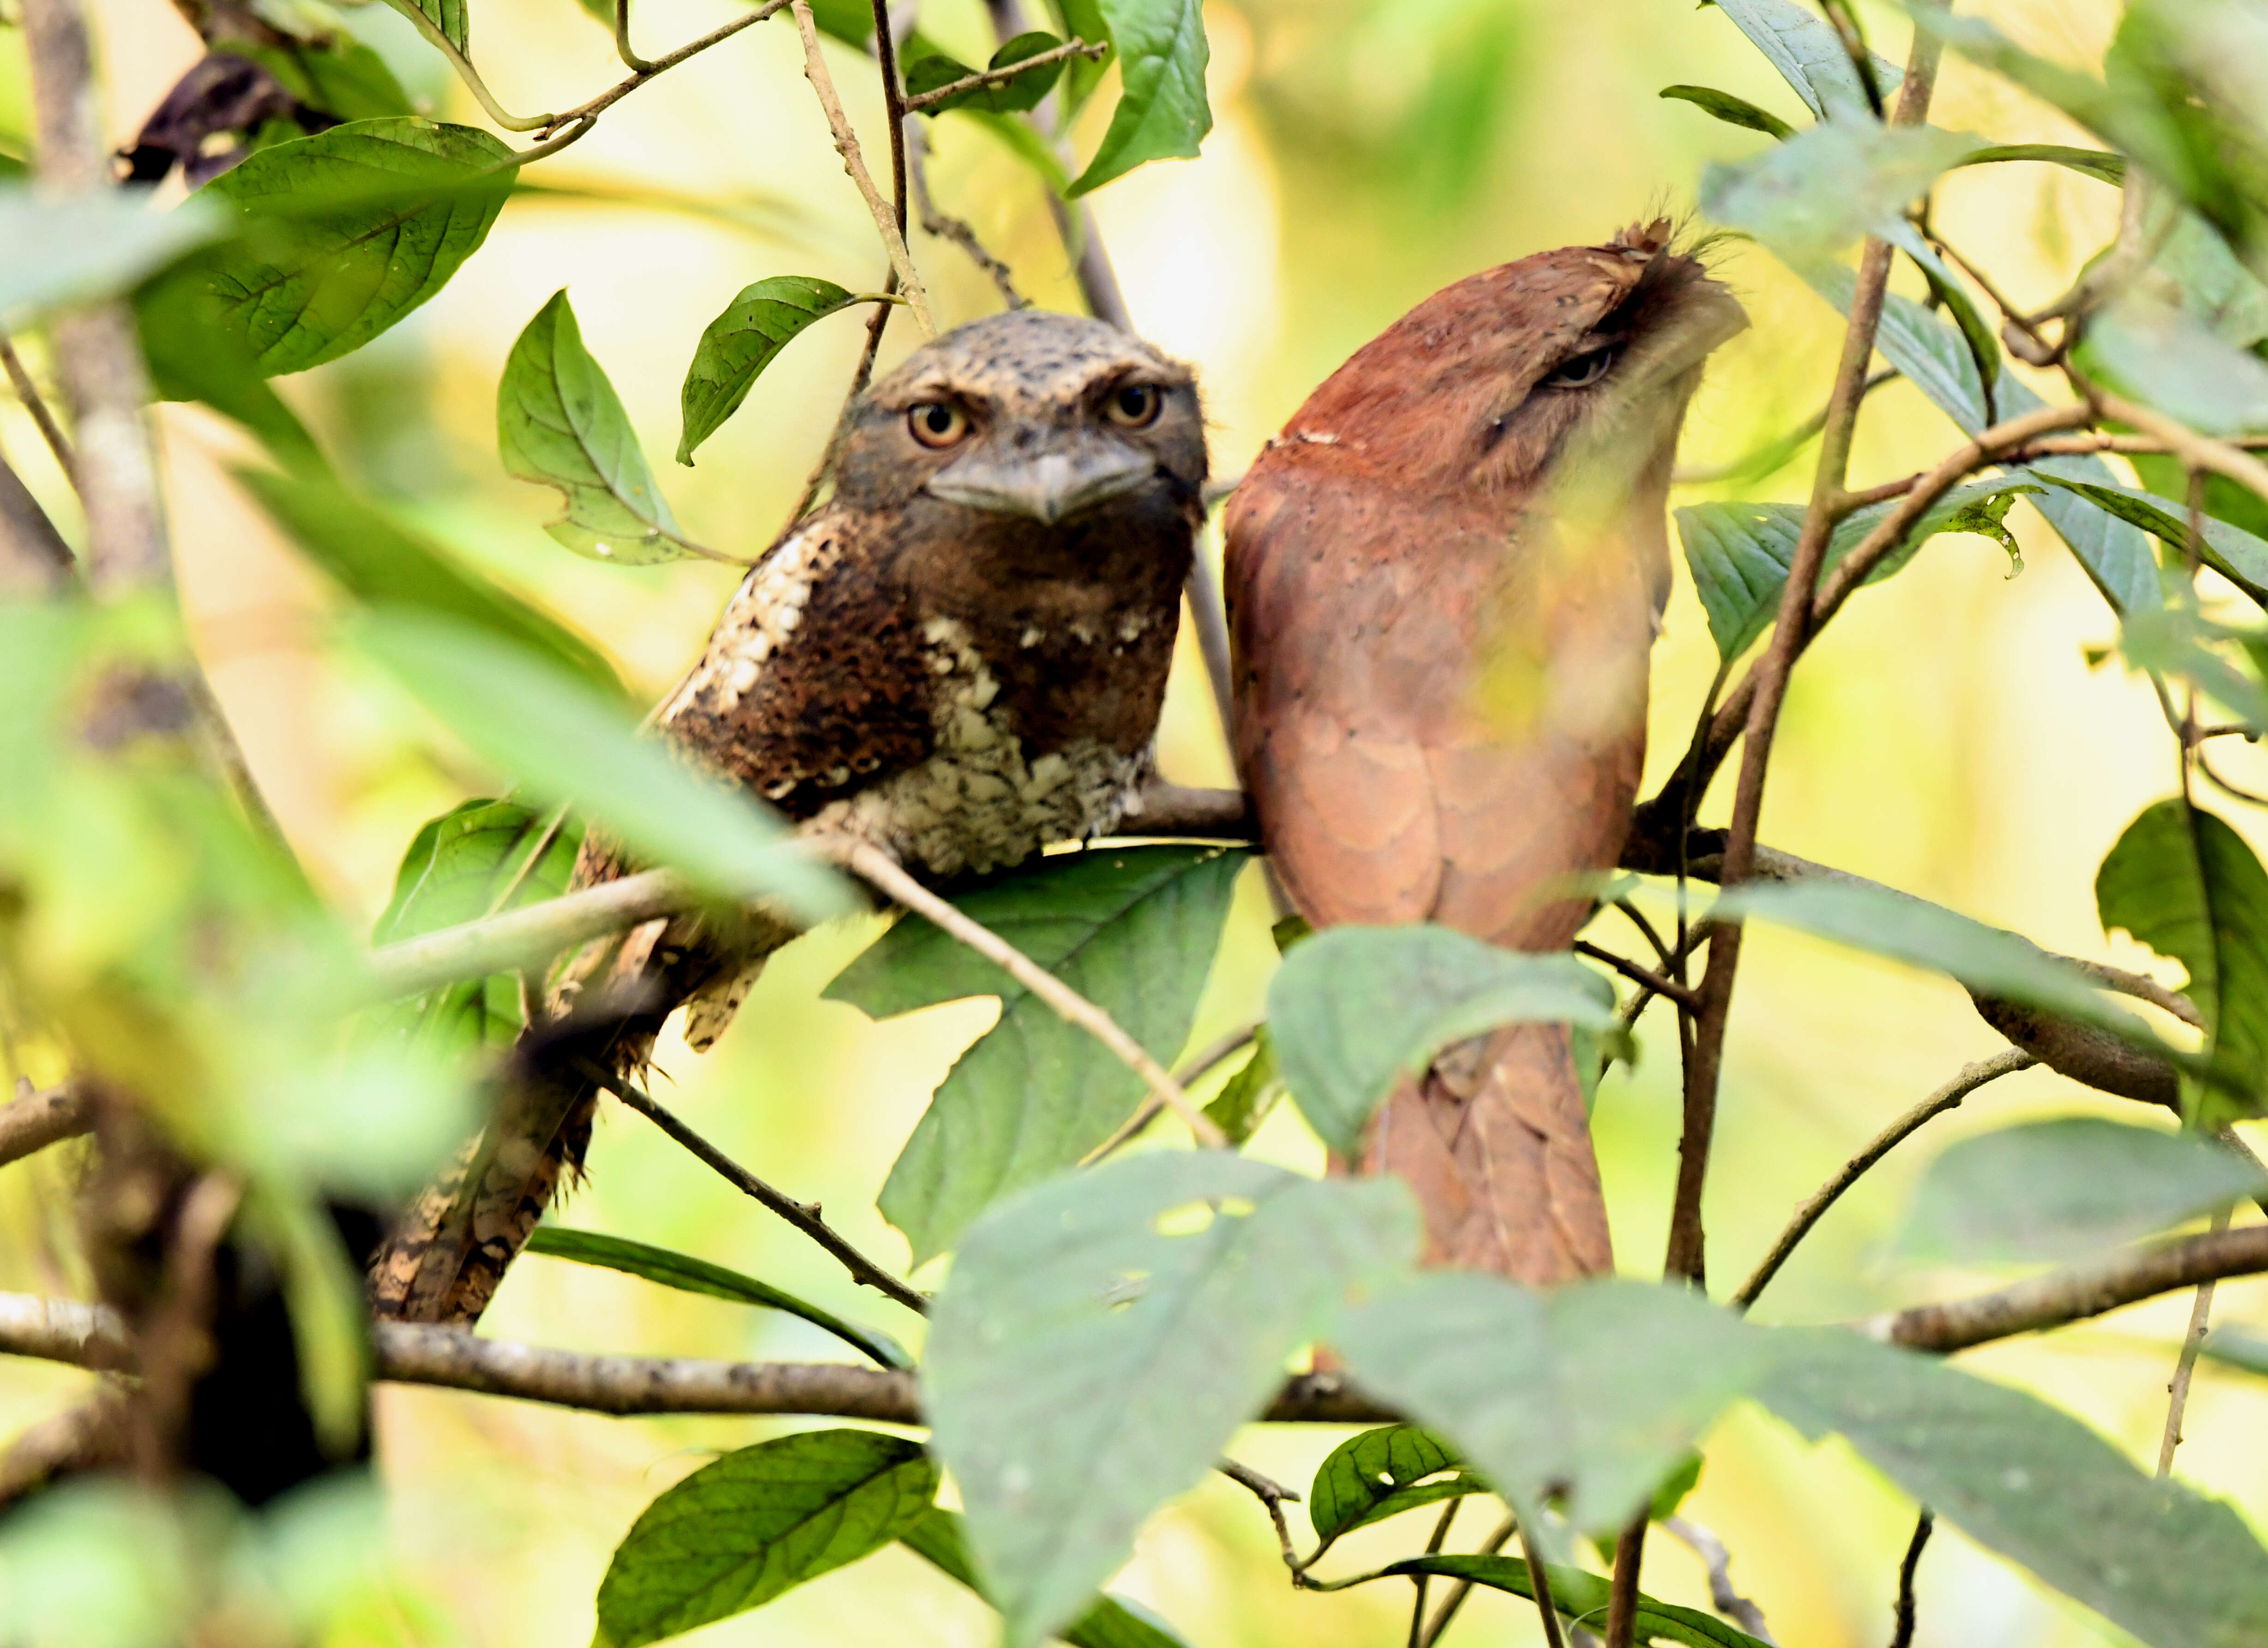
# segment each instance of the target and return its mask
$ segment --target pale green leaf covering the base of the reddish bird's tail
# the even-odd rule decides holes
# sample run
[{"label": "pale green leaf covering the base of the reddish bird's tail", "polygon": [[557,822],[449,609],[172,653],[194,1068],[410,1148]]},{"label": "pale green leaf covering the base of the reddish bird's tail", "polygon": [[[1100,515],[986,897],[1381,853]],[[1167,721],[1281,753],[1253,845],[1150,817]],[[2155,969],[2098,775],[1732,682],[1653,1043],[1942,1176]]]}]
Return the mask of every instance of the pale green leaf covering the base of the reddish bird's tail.
[{"label": "pale green leaf covering the base of the reddish bird's tail", "polygon": [[1615,1027],[1615,991],[1569,954],[1499,950],[1447,927],[1331,927],[1268,982],[1284,1086],[1331,1149],[1449,1043],[1497,1025]]}]

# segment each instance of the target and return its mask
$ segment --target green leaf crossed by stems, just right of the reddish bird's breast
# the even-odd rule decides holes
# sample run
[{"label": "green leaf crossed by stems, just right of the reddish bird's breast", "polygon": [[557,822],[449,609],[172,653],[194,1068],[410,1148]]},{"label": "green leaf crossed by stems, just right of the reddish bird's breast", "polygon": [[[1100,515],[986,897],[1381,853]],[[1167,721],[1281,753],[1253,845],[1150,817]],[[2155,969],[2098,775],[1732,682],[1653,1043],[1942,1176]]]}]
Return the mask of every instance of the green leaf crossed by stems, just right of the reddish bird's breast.
[{"label": "green leaf crossed by stems, just right of the reddish bird's breast", "polygon": [[[1882,583],[1903,571],[1914,551],[1937,533],[1978,530],[1964,519],[1969,510],[1991,499],[2014,501],[2025,492],[2039,487],[2021,481],[1971,481],[1953,487],[1923,512],[1905,544],[1867,574],[1867,583]],[[1896,506],[1898,499],[1892,499],[1844,517],[1828,537],[1821,571],[1857,549]],[[1803,512],[1801,503],[1690,503],[1676,512],[1678,542],[1685,544],[1685,564],[1692,569],[1694,594],[1701,596],[1719,657],[1740,657],[1778,619],[1780,592],[1787,587],[1796,537],[1803,533]]]}]

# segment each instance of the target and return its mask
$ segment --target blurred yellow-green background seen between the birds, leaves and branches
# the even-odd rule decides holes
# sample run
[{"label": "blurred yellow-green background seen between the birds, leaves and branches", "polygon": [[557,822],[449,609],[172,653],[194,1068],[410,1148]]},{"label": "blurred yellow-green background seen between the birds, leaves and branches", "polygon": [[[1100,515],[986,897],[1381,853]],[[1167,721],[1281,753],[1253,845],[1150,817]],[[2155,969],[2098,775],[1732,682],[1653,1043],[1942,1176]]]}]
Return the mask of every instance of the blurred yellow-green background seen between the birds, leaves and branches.
[{"label": "blurred yellow-green background seen between the birds, leaves and branches", "polygon": [[[642,0],[651,54],[735,16],[733,0]],[[2107,0],[1991,0],[1982,9],[2050,57],[2091,63],[2114,23]],[[1157,163],[1095,197],[1100,233],[1141,329],[1195,363],[1213,419],[1216,474],[1234,476],[1259,442],[1359,342],[1427,292],[1533,249],[1601,240],[1656,209],[1685,211],[1701,165],[1762,138],[1660,102],[1699,82],[1785,116],[1794,97],[1740,34],[1687,0],[1211,0],[1209,91],[1216,127],[1198,161]],[[1894,9],[1867,11],[1876,43],[1903,50]],[[125,141],[200,43],[163,0],[98,0],[109,125]],[[406,27],[365,7],[404,82],[438,116],[479,125],[440,61]],[[921,27],[982,61],[978,0],[928,0]],[[610,41],[572,0],[479,0],[474,54],[508,107],[578,102],[619,77]],[[395,50],[399,48],[399,50]],[[850,116],[880,150],[880,97],[864,59],[835,52]],[[20,109],[16,68],[0,104]],[[1091,147],[1109,97],[1082,127]],[[1948,61],[1935,118],[2000,143],[2073,141],[2019,93]],[[1095,129],[1089,129],[1095,127]],[[975,125],[939,120],[932,186],[968,218],[1048,306],[1077,306],[1039,186]],[[533,181],[615,197],[519,197],[451,286],[376,345],[279,383],[342,469],[433,535],[596,639],[642,694],[683,669],[726,592],[728,567],[619,569],[583,562],[540,530],[551,496],[503,478],[494,383],[517,331],[567,286],[585,342],[621,390],[692,535],[753,555],[782,524],[819,458],[860,342],[835,320],[787,349],[696,469],[667,465],[676,392],[701,326],[748,281],[816,274],[873,290],[885,272],[871,222],[828,147],[801,77],[794,34],[758,27],[624,100]],[[671,204],[678,202],[678,204]],[[699,204],[701,209],[692,209]],[[2025,304],[2053,297],[2109,240],[2116,195],[2041,165],[1953,175],[1937,224]],[[916,236],[941,320],[993,306],[959,249]],[[0,252],[5,256],[5,252]],[[1839,324],[1765,254],[1717,254],[1749,304],[1694,406],[1683,458],[1737,456],[1803,419],[1823,397]],[[896,324],[885,365],[912,342]],[[249,458],[231,426],[166,408],[163,458],[179,576],[197,644],[252,771],[315,880],[356,923],[374,916],[395,861],[426,816],[492,780],[435,741],[397,691],[327,637],[333,601],[229,481]],[[1857,478],[1928,465],[1950,428],[1916,392],[1873,397]],[[59,519],[68,490],[14,401],[0,447]],[[1801,496],[1803,465],[1751,496]],[[1724,490],[1717,496],[1728,496]],[[1690,492],[1687,496],[1703,496]],[[2173,744],[2148,685],[2084,648],[2112,617],[2071,555],[2019,508],[2021,576],[1980,537],[1937,540],[1898,580],[1869,592],[1796,673],[1765,839],[1828,864],[2016,927],[2073,954],[2150,966],[2109,943],[2093,916],[2093,868],[2118,830],[2175,784]],[[73,521],[75,526],[75,521]],[[66,528],[68,530],[68,528]],[[1656,669],[1656,778],[1690,732],[1715,651],[1690,587],[1669,608]],[[1184,644],[1163,734],[1182,782],[1229,780],[1202,671]],[[2245,748],[2239,782],[2268,778]],[[2252,834],[2234,802],[2211,802]],[[1721,816],[1724,796],[1708,816]],[[1610,918],[1606,943],[1628,936]],[[737,1158],[801,1197],[889,1263],[903,1240],[873,1195],[950,1059],[989,1004],[871,1025],[816,1000],[871,936],[830,929],[769,968],[730,1036],[705,1059],[665,1043],[665,1097]],[[1268,909],[1247,884],[1216,968],[1195,1043],[1247,1022],[1272,959]],[[1708,1201],[1710,1260],[1726,1292],[1787,1213],[1851,1149],[1964,1061],[2000,1043],[1944,982],[1785,934],[1746,952],[1733,1020],[1721,1142]],[[1667,1020],[1642,1027],[1635,1077],[1617,1070],[1597,1131],[1622,1267],[1660,1263],[1676,1165],[1676,1050]],[[1914,1170],[1962,1131],[2028,1113],[2098,1104],[2046,1072],[1996,1084],[1867,1179],[1767,1294],[1760,1315],[1826,1322],[1994,1281],[1894,1265],[1885,1249]],[[2112,1102],[2100,1102],[2105,1108]],[[1320,1147],[1286,1111],[1261,1149],[1315,1163]],[[0,1176],[0,1288],[77,1290],[57,1235],[70,1163],[50,1152]],[[764,1217],[635,1115],[603,1118],[590,1183],[560,1222],[678,1247],[907,1335],[857,1297],[810,1245]],[[2173,1297],[2050,1344],[1969,1358],[2064,1403],[2146,1464],[2164,1417],[2173,1340],[2189,1299]],[[2223,1285],[2216,1319],[2268,1326],[2268,1283]],[[798,1322],[674,1294],[547,1258],[519,1263],[485,1331],[574,1349],[726,1358],[828,1358],[837,1347]],[[0,1435],[70,1401],[79,1374],[0,1365]],[[637,1510],[714,1449],[778,1433],[730,1419],[601,1419],[474,1396],[381,1390],[381,1460],[401,1582],[336,1641],[583,1643],[608,1551]],[[1252,1430],[1241,1453],[1304,1483],[1340,1437]],[[2268,1528],[2268,1385],[2207,1365],[2191,1403],[2180,1473]],[[1694,1521],[1735,1553],[1733,1573],[1783,1643],[1842,1648],[1889,1637],[1889,1600],[1912,1507],[1839,1446],[1808,1449],[1753,1408],[1710,1437]],[[1349,1541],[1347,1566],[1413,1548],[1422,1519]],[[1488,1517],[1470,1512],[1465,1537]],[[1649,1544],[1647,1589],[1706,1605],[1699,1564]],[[1399,1641],[1408,1594],[1374,1587],[1297,1596],[1284,1585],[1256,1507],[1211,1483],[1143,1535],[1116,1582],[1200,1648]],[[719,1623],[717,1643],[984,1643],[989,1614],[903,1551]],[[1533,1641],[1533,1609],[1476,1598],[1452,1643]],[[1946,1530],[1921,1569],[1926,1648],[2077,1648],[2114,1641],[2007,1564]]]}]

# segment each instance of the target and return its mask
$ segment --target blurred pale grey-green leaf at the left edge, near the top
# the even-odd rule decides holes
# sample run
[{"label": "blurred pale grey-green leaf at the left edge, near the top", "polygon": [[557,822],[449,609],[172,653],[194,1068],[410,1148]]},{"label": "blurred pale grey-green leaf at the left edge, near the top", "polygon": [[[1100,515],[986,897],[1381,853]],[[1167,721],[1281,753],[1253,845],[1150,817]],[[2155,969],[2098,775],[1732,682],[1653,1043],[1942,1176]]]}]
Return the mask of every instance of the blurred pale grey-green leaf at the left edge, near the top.
[{"label": "blurred pale grey-green leaf at the left edge, near the top", "polygon": [[227,231],[204,199],[152,211],[147,188],[45,197],[0,186],[0,324],[18,326],[59,304],[113,297],[152,270]]}]

